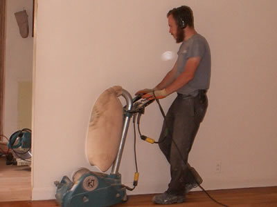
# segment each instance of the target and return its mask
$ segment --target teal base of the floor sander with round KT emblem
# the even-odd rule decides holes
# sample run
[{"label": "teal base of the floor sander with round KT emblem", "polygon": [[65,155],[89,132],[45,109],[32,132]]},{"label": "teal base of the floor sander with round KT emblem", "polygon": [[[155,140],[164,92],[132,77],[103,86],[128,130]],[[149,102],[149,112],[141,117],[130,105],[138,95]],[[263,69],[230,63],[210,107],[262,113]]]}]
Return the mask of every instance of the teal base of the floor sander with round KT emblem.
[{"label": "teal base of the floor sander with round KT emblem", "polygon": [[[80,176],[80,177],[79,177]],[[60,206],[112,206],[127,201],[126,189],[119,173],[107,175],[82,168],[75,172],[75,184],[64,176],[57,184],[56,199]]]}]

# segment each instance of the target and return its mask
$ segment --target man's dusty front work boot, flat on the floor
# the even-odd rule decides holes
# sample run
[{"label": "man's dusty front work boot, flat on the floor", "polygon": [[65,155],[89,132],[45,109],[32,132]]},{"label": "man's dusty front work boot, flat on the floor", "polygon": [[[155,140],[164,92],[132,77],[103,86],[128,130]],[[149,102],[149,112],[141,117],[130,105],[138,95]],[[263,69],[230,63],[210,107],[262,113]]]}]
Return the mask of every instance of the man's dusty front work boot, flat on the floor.
[{"label": "man's dusty front work boot, flat on the floor", "polygon": [[179,204],[185,201],[185,197],[183,195],[172,195],[165,192],[155,195],[152,201],[155,204]]}]

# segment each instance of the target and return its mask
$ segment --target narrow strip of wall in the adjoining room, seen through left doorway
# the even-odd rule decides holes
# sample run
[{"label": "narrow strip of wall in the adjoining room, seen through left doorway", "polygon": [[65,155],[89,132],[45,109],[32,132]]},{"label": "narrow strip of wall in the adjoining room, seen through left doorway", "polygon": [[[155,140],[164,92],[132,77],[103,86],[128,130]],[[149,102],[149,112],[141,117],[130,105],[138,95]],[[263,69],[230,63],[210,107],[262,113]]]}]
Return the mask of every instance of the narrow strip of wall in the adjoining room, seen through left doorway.
[{"label": "narrow strip of wall in the adjoining room, seen through left doorway", "polygon": [[[26,10],[28,14],[29,35],[22,38],[19,33],[19,27],[15,19],[15,12]],[[33,0],[8,0],[7,1],[7,19],[6,19],[6,60],[5,60],[5,99],[4,99],[4,117],[3,131],[7,137],[13,132],[19,130],[19,126],[29,127],[24,124],[25,118],[18,114],[18,88],[19,83],[32,81],[33,70]],[[25,95],[24,93],[22,95]],[[24,104],[23,108],[31,108],[30,101]],[[20,104],[20,103],[19,103]],[[19,121],[19,119],[20,121]],[[23,122],[22,122],[23,121]],[[20,122],[20,123],[19,123]],[[30,121],[28,121],[30,122]]]}]

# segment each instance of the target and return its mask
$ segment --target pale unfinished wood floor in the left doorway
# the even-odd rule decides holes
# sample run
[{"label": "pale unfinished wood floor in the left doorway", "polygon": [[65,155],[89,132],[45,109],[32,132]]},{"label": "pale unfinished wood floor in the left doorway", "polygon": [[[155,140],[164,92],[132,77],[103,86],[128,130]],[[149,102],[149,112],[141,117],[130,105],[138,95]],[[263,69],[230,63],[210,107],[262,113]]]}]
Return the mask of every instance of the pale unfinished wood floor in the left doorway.
[{"label": "pale unfinished wood floor in the left doorway", "polygon": [[30,168],[7,166],[6,158],[0,157],[0,201],[30,200],[31,193]]}]

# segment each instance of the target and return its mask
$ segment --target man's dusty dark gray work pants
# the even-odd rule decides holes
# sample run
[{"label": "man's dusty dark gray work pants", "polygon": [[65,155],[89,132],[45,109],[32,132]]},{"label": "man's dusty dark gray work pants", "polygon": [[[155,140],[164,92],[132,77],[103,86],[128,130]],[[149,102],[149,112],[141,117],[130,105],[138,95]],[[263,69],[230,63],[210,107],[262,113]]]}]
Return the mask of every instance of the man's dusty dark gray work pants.
[{"label": "man's dusty dark gray work pants", "polygon": [[163,121],[159,147],[170,163],[171,180],[167,190],[170,194],[184,195],[185,185],[195,184],[188,170],[188,153],[208,107],[206,92],[201,94],[177,95]]}]

